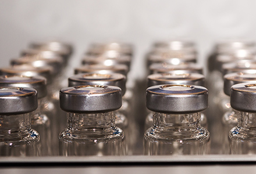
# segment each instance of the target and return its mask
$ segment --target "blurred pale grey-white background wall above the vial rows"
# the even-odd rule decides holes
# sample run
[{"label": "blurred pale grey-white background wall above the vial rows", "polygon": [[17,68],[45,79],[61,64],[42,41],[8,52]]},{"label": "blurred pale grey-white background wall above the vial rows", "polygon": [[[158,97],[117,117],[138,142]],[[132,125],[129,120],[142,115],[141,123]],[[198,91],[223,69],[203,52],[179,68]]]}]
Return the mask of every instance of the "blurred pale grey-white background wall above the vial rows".
[{"label": "blurred pale grey-white background wall above the vial rows", "polygon": [[131,74],[140,78],[152,42],[171,38],[195,41],[204,65],[219,39],[256,40],[255,5],[250,0],[1,0],[0,66],[8,66],[31,41],[52,37],[74,44],[74,67],[90,42],[124,41],[136,48]]}]

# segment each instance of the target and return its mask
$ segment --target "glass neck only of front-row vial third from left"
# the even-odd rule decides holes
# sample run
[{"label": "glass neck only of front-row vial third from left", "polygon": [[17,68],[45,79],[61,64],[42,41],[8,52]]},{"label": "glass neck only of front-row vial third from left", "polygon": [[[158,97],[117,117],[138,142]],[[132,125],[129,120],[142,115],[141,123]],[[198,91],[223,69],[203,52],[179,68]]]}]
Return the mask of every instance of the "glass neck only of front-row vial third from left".
[{"label": "glass neck only of front-row vial third from left", "polygon": [[153,112],[154,128],[162,131],[191,131],[201,126],[200,113],[164,114]]}]

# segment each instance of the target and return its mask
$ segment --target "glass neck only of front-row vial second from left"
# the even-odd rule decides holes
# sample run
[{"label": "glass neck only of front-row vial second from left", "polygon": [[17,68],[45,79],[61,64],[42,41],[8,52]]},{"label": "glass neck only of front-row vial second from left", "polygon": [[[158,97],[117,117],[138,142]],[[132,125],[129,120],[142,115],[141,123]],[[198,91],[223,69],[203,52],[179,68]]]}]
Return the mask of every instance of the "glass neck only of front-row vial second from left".
[{"label": "glass neck only of front-row vial second from left", "polygon": [[115,127],[115,111],[108,113],[67,113],[67,128],[73,131],[96,131]]}]

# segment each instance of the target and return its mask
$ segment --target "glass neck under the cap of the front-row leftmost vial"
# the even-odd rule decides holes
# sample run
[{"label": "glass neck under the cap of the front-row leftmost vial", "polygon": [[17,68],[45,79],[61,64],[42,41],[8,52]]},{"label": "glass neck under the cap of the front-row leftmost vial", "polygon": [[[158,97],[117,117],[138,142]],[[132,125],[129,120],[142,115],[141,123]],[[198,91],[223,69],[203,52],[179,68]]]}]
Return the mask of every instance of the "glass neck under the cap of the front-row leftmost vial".
[{"label": "glass neck under the cap of the front-row leftmost vial", "polygon": [[30,113],[0,115],[0,134],[20,133],[31,129]]}]

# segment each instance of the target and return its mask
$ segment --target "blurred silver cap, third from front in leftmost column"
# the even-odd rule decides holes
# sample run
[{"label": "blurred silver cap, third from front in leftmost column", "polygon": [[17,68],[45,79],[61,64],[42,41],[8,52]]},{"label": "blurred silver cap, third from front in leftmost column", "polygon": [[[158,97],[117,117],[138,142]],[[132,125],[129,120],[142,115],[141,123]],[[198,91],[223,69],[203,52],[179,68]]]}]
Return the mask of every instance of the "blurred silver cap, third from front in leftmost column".
[{"label": "blurred silver cap, third from front in leftmost column", "polygon": [[42,76],[47,79],[48,83],[51,83],[52,81],[51,72],[51,67],[33,67],[29,64],[0,68],[0,75],[23,75],[27,77]]}]

